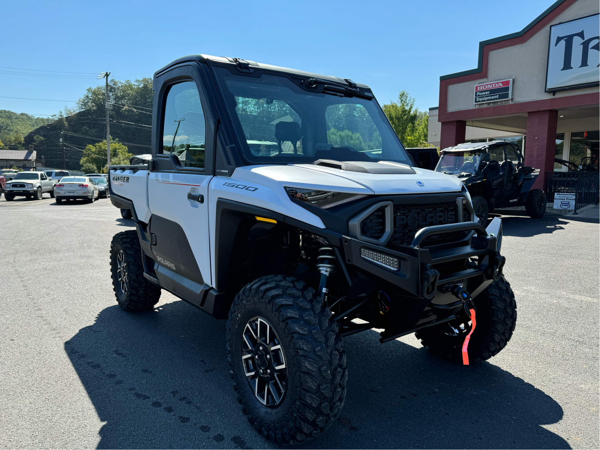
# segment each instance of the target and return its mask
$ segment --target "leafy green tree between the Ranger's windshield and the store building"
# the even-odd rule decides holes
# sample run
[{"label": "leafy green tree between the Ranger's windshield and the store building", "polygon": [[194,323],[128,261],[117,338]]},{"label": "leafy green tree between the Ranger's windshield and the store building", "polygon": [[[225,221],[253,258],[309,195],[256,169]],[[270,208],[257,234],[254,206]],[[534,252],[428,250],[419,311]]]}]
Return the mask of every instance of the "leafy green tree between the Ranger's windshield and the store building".
[{"label": "leafy green tree between the Ranger's windshield and the store building", "polygon": [[429,115],[415,107],[415,98],[408,92],[400,91],[398,103],[384,104],[383,112],[405,147],[430,146],[427,143]]}]

